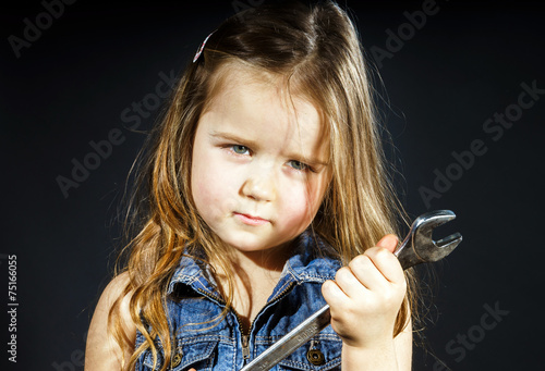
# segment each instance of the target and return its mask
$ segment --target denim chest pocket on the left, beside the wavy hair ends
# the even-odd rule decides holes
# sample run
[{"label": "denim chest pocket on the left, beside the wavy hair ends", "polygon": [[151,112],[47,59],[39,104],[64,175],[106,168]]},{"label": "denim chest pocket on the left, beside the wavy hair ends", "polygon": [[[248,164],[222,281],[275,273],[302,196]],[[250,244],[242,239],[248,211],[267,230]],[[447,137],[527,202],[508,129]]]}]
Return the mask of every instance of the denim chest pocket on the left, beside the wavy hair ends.
[{"label": "denim chest pocket on the left, beside the wavy hair ends", "polygon": [[[172,353],[169,371],[182,371],[194,368],[198,371],[211,370],[217,361],[217,348],[219,338],[217,336],[198,336],[179,341],[179,345]],[[160,370],[162,359],[154,369],[154,358],[150,351],[146,353],[143,364],[145,370]]]}]

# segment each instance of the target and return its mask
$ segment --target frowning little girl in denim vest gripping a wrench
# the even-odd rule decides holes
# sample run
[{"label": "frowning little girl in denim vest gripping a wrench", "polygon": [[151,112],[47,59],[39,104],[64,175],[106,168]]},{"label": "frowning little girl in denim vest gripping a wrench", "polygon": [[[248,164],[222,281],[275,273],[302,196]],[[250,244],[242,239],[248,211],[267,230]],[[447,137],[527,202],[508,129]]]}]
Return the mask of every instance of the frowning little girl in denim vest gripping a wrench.
[{"label": "frowning little girl in denim vest gripping a wrench", "polygon": [[153,133],[85,369],[239,370],[327,302],[331,325],[274,370],[410,370],[414,284],[391,253],[403,213],[380,134],[336,3],[223,22]]}]

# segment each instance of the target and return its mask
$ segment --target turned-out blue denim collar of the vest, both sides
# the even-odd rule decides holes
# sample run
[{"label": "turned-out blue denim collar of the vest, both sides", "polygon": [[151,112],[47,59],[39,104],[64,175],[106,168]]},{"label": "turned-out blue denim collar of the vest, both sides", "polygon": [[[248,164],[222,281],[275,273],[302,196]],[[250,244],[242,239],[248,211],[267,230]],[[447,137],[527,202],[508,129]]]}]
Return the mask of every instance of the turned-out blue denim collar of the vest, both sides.
[{"label": "turned-out blue denim collar of the vest, both sides", "polygon": [[[334,280],[335,273],[341,267],[341,262],[335,258],[337,253],[334,248],[310,228],[296,237],[294,246],[294,253],[286,262],[278,284],[267,301],[274,300],[293,284]],[[197,292],[218,296],[216,283],[208,269],[187,256],[180,260],[167,294],[171,294],[177,284],[185,284]]]}]

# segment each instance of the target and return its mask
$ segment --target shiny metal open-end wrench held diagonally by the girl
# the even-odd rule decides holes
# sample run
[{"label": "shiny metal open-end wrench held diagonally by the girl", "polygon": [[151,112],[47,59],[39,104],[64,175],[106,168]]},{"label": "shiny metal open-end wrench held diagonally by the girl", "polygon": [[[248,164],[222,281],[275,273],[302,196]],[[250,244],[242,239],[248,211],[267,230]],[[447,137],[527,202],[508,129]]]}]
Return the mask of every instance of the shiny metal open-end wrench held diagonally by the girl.
[{"label": "shiny metal open-end wrench held diagonally by the girl", "polygon": [[[462,240],[460,233],[453,233],[437,242],[432,238],[432,234],[434,228],[455,218],[455,213],[450,210],[437,210],[422,214],[414,220],[407,237],[393,251],[403,270],[420,263],[438,261],[452,252]],[[324,330],[330,321],[329,306],[325,305],[240,371],[271,369]]]}]

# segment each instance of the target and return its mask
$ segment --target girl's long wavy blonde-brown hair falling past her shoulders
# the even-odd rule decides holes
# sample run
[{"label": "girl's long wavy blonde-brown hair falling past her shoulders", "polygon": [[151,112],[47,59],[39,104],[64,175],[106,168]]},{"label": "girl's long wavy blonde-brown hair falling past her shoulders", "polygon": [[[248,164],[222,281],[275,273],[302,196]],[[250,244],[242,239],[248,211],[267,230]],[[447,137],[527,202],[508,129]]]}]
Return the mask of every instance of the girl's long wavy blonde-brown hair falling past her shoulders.
[{"label": "girl's long wavy blonde-brown hair falling past her shoulders", "polygon": [[[145,342],[124,360],[124,369],[133,369],[146,350],[157,361],[159,341],[167,360],[161,370],[167,370],[173,335],[165,311],[166,289],[183,253],[195,256],[198,249],[232,280],[229,253],[199,218],[190,187],[196,126],[217,90],[218,71],[231,62],[288,77],[293,90],[326,119],[332,180],[312,227],[344,263],[385,234],[397,234],[404,218],[385,161],[368,67],[347,13],[332,1],[312,7],[288,2],[228,18],[209,37],[201,58],[185,69],[165,116],[149,135],[147,157],[138,159],[125,219],[126,234],[134,237],[120,255],[119,261],[126,258],[126,264],[117,272],[128,272],[129,283],[110,310],[110,331],[122,349],[131,349],[119,316],[122,297],[131,293],[131,317]],[[408,295],[395,335],[411,310],[417,312],[414,280],[410,273],[407,277]]]}]

